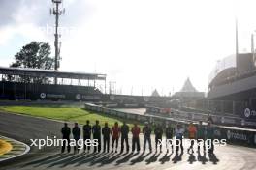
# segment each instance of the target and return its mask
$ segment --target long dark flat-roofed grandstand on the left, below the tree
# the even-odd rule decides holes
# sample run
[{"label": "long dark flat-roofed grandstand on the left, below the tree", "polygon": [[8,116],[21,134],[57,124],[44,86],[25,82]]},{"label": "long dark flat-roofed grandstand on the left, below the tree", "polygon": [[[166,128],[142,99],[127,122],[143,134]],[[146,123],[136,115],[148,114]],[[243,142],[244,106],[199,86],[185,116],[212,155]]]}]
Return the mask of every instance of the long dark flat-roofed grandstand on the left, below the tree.
[{"label": "long dark flat-roofed grandstand on the left, below the tree", "polygon": [[0,75],[0,99],[97,100],[103,93],[95,82],[104,81],[106,89],[106,74],[0,67]]}]

